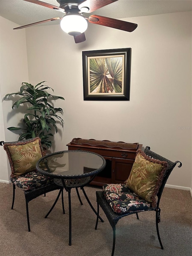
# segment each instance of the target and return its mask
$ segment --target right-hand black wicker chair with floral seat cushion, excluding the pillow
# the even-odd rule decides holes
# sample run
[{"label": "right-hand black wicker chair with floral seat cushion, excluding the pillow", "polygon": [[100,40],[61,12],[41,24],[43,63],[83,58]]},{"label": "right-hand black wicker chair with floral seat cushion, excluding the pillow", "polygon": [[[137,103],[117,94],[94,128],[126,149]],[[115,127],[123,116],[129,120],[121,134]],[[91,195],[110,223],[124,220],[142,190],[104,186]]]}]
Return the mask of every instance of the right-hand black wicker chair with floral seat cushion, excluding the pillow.
[{"label": "right-hand black wicker chair with floral seat cushion, excluding the pillow", "polygon": [[[182,163],[180,161],[176,161],[173,163],[172,161],[162,157],[161,155],[158,155],[158,154],[152,152],[150,150],[149,146],[147,146],[145,148],[144,152],[151,159],[155,159],[155,160],[158,159],[160,161],[166,161],[168,163],[168,168],[167,168],[167,170],[165,170],[164,175],[162,176],[162,178],[163,178],[161,180],[162,183],[160,184],[158,191],[156,191],[156,193],[155,193],[155,195],[157,196],[157,202],[156,202],[155,206],[151,202],[148,202],[148,201],[144,200],[143,198],[139,197],[136,193],[134,193],[133,190],[129,189],[125,184],[107,184],[107,185],[103,186],[103,191],[96,191],[98,215],[99,215],[99,206],[101,206],[101,208],[103,209],[104,213],[106,214],[106,216],[110,222],[110,225],[113,228],[113,249],[112,249],[111,256],[114,255],[115,239],[116,239],[116,224],[119,221],[119,219],[122,217],[125,217],[127,215],[130,215],[130,214],[136,214],[137,219],[139,219],[138,212],[143,212],[143,211],[155,211],[156,212],[157,235],[158,235],[159,243],[161,245],[161,249],[163,249],[163,245],[162,245],[160,234],[159,234],[159,228],[158,228],[158,223],[160,222],[160,211],[161,211],[161,209],[159,207],[159,203],[160,203],[161,194],[163,192],[164,186],[167,182],[167,179],[168,179],[171,171],[173,170],[173,168],[176,166],[177,163],[179,163],[178,167],[181,167]],[[113,196],[115,194],[113,199],[111,199],[111,200],[106,199],[107,198],[106,195],[108,193],[107,190],[108,191],[111,190],[113,192]],[[115,193],[115,192],[117,192],[117,193]],[[124,201],[121,200],[122,194],[124,194],[123,199],[125,199],[125,195],[127,197]],[[119,196],[119,198],[120,198],[119,201],[117,200],[116,196],[117,197]],[[132,200],[134,200],[134,201],[132,201],[132,203],[131,203],[130,198]],[[118,205],[118,202],[120,204],[124,203],[124,206],[125,206],[124,210],[122,212],[119,210],[119,213],[115,212],[114,211],[114,202],[116,203],[116,205]],[[133,202],[136,202],[136,203],[133,203]],[[127,210],[125,210],[126,205],[128,206]],[[131,207],[130,207],[130,205],[131,205]],[[112,209],[112,207],[113,207],[113,209]],[[97,215],[95,229],[97,229],[97,225],[98,225],[98,215]]]}]

